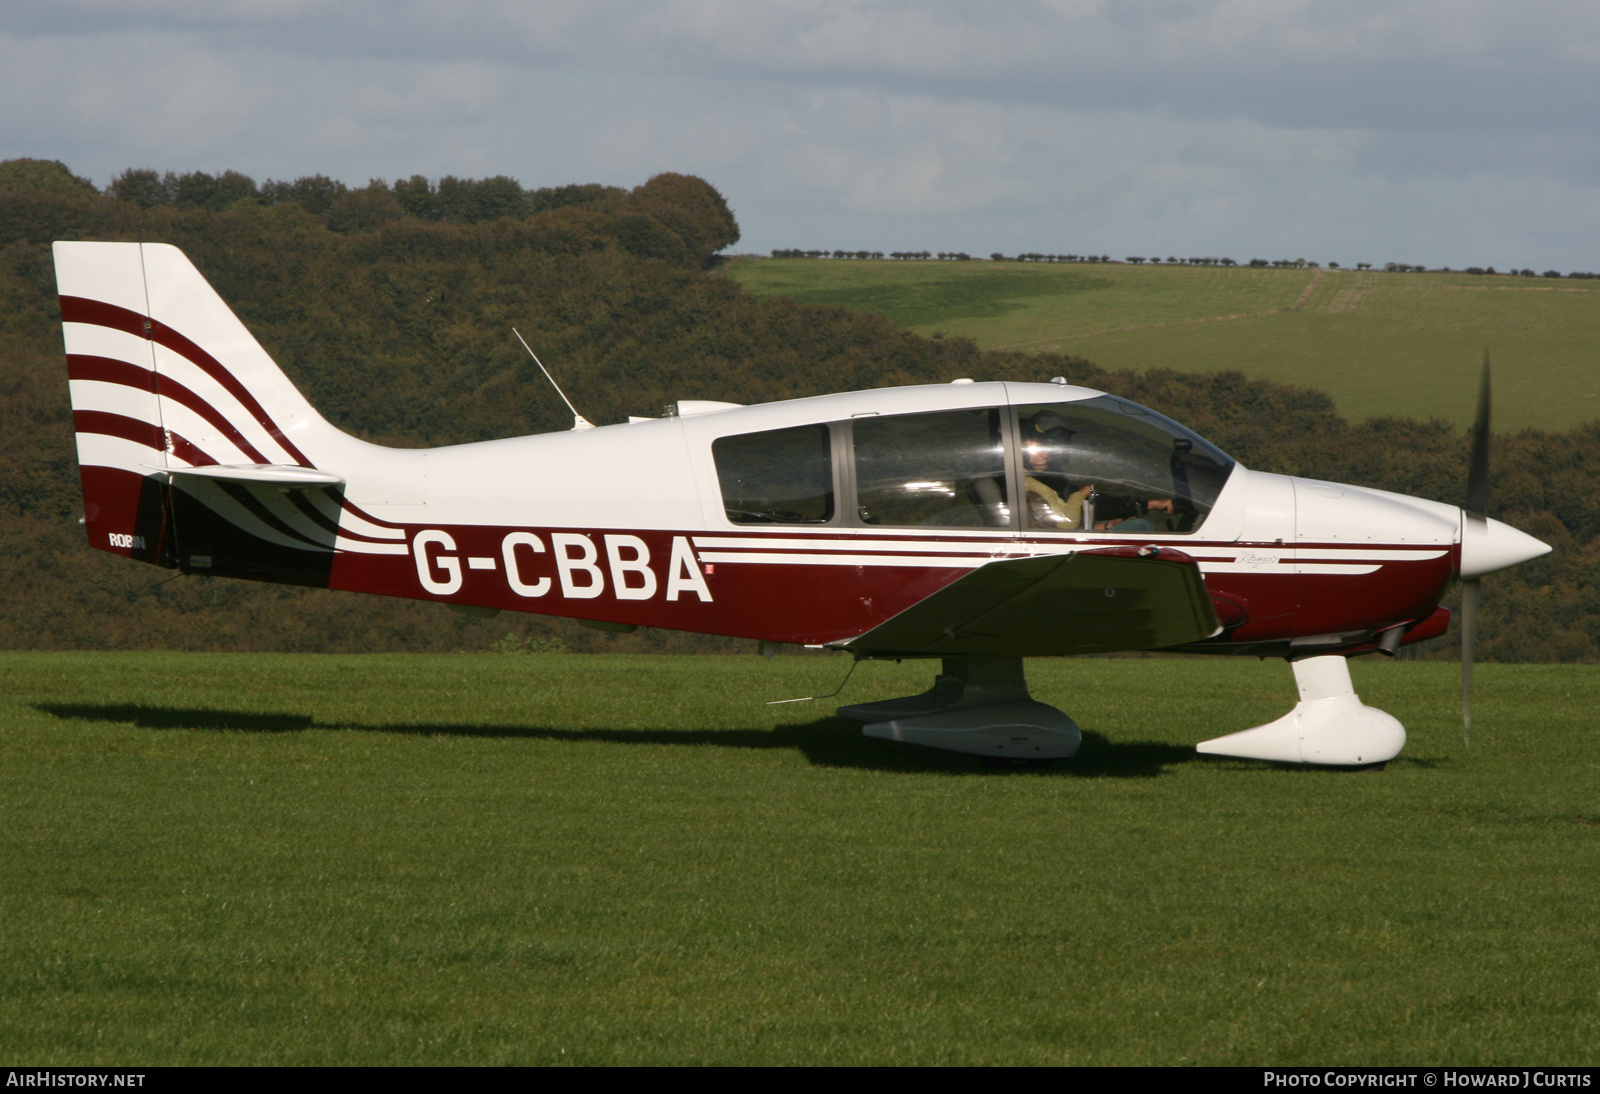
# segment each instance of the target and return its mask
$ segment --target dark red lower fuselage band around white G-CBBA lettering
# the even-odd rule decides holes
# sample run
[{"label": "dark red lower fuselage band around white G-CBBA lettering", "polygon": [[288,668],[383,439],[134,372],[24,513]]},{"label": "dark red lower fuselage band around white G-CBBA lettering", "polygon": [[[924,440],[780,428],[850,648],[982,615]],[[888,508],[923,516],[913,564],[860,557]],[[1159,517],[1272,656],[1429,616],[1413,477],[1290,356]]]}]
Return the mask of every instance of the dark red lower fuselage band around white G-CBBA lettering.
[{"label": "dark red lower fuselage band around white G-CBBA lettering", "polygon": [[[693,593],[680,593],[677,601],[667,601],[664,589],[672,558],[672,542],[675,539],[693,544],[694,539],[746,539],[741,533],[728,531],[640,531],[640,529],[549,529],[549,528],[494,528],[494,526],[430,526],[446,533],[454,541],[454,549],[429,547],[427,569],[435,582],[442,582],[450,574],[450,566],[459,573],[459,587],[446,595],[430,593],[424,589],[418,558],[408,555],[366,555],[357,552],[339,552],[334,558],[334,589],[350,589],[358,592],[381,593],[389,597],[406,597],[414,600],[440,600],[446,603],[478,605],[486,608],[502,608],[509,611],[528,611],[550,616],[568,616],[576,619],[600,619],[610,622],[637,624],[643,627],[666,627],[675,630],[696,630],[704,633],[734,635],[744,638],[766,638],[773,641],[792,641],[821,645],[853,638],[880,622],[891,619],[906,608],[910,608],[925,597],[938,592],[944,585],[971,573],[965,566],[920,566],[920,565],[810,565],[762,563],[760,552],[752,552],[749,561],[718,561],[712,573],[706,573],[706,565],[698,563],[702,579],[712,593],[712,600],[702,603]],[[419,526],[408,526],[408,542],[414,544]],[[550,587],[541,597],[518,595],[510,589],[504,573],[502,545],[510,534],[533,534],[544,547],[542,552],[517,549],[518,579],[523,585],[549,579]],[[594,550],[589,563],[600,571],[602,590],[595,597],[563,595],[560,573],[555,561],[552,536],[582,536]],[[614,576],[610,573],[605,537],[638,537],[650,550],[650,566],[656,590],[648,600],[626,600],[614,595]],[[784,533],[773,533],[768,539],[784,537]],[[789,533],[787,537],[798,539]],[[747,537],[755,547],[762,536]],[[930,552],[934,547],[979,549],[994,552],[997,557],[1022,557],[1030,553],[1029,547],[1059,547],[1059,542],[1046,541],[1005,541],[995,539],[970,541],[946,537],[917,536],[878,536],[875,541],[894,541],[893,549],[875,552],[851,552],[850,537],[819,537],[818,555],[862,553],[862,555],[894,555],[914,553],[915,545],[925,545]],[[1144,545],[1149,541],[1125,539],[1074,544],[1083,550]],[[899,544],[906,544],[901,549]],[[1206,549],[1235,550],[1251,544],[1171,544],[1178,550],[1203,555]],[[822,549],[827,550],[822,550]],[[1277,547],[1277,544],[1259,544],[1259,547]],[[1349,545],[1341,545],[1349,550]],[[693,549],[696,558],[701,553],[726,550],[725,547]],[[792,549],[790,549],[792,550]],[[1370,547],[1374,557],[1386,553],[1384,545]],[[1416,544],[1395,544],[1387,547],[1394,552],[1416,552]],[[1392,560],[1378,563],[1379,568],[1370,574],[1296,574],[1293,565],[1283,573],[1213,573],[1206,574],[1206,587],[1216,593],[1226,593],[1242,601],[1248,613],[1245,621],[1227,635],[1234,643],[1251,641],[1286,641],[1304,635],[1342,633],[1357,630],[1381,629],[1394,622],[1426,617],[1438,603],[1438,597],[1448,587],[1453,573],[1451,550],[1438,549],[1438,558],[1429,560]],[[949,555],[949,552],[946,552]],[[488,560],[491,565],[483,569],[472,569],[469,558]],[[1203,565],[1203,563],[1202,563]],[[576,584],[592,584],[594,573],[578,574]],[[622,574],[627,581],[629,576]],[[637,584],[637,579],[635,579]]]}]

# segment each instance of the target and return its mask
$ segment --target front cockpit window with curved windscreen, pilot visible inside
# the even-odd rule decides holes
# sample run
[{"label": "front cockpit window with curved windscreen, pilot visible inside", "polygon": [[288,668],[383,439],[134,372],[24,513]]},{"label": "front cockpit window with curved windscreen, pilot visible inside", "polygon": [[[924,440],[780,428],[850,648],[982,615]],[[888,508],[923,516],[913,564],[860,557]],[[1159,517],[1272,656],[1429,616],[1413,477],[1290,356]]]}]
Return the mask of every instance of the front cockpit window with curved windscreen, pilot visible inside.
[{"label": "front cockpit window with curved windscreen, pilot visible inside", "polygon": [[1192,533],[1234,470],[1205,438],[1115,395],[1018,406],[1016,424],[1027,528]]}]

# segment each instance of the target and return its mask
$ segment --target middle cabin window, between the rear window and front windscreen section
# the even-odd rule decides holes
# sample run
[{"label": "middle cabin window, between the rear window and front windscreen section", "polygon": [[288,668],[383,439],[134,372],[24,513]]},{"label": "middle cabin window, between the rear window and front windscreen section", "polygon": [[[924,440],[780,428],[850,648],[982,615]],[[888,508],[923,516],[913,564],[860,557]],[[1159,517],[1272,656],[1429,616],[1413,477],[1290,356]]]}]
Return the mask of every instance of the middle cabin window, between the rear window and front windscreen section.
[{"label": "middle cabin window, between the rear window and front windscreen section", "polygon": [[1010,528],[1000,429],[995,408],[854,419],[861,523]]}]

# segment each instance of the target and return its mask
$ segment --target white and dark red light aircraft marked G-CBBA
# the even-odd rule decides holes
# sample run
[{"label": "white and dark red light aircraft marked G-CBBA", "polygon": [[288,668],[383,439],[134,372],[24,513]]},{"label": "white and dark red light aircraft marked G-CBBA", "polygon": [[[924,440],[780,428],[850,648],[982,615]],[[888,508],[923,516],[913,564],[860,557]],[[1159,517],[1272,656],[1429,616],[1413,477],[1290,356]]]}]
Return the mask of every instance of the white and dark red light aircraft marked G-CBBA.
[{"label": "white and dark red light aircraft marked G-CBBA", "polygon": [[[1486,373],[1467,507],[1240,467],[1064,381],[762,406],[432,449],[328,424],[160,243],[56,243],[99,550],[194,574],[942,657],[920,696],[840,707],[870,736],[1070,757],[1022,657],[1277,656],[1298,705],[1200,752],[1382,763],[1405,745],[1347,657],[1443,633],[1451,581],[1546,544],[1483,517]],[[1470,649],[1470,641],[1464,646]],[[1470,665],[1470,653],[1464,654]]]}]

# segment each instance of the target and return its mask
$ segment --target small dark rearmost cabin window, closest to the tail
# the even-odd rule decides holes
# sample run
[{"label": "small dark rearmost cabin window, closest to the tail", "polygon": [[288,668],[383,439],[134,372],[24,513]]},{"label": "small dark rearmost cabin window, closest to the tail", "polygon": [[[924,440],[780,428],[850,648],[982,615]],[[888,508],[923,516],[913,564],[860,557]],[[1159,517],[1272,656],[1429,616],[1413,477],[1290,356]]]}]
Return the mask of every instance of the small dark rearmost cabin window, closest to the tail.
[{"label": "small dark rearmost cabin window, closest to the tail", "polygon": [[718,437],[710,451],[722,504],[733,523],[834,520],[834,449],[827,425]]}]

